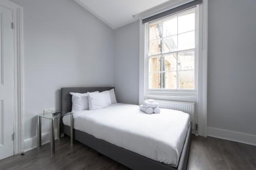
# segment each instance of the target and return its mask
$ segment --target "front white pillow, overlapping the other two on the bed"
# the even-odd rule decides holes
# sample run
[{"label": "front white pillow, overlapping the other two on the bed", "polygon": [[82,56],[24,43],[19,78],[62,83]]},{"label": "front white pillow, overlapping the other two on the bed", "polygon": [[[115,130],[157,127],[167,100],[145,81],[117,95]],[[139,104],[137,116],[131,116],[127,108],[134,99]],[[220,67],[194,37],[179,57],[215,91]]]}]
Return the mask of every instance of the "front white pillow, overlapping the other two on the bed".
[{"label": "front white pillow, overlapping the other two on the bed", "polygon": [[96,110],[111,105],[111,98],[109,91],[102,91],[100,93],[90,93],[88,92],[89,97],[89,109]]}]

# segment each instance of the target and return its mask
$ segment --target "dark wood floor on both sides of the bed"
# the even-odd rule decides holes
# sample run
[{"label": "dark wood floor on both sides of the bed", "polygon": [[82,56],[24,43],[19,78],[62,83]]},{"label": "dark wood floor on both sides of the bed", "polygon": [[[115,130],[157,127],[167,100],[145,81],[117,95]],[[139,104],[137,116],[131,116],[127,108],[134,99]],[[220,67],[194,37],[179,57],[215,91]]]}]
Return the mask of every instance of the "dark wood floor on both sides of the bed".
[{"label": "dark wood floor on both sides of the bed", "polygon": [[[0,169],[129,169],[114,160],[75,142],[69,137],[56,140],[55,156],[50,144],[0,161]],[[188,169],[256,169],[256,147],[213,137],[193,135]]]}]

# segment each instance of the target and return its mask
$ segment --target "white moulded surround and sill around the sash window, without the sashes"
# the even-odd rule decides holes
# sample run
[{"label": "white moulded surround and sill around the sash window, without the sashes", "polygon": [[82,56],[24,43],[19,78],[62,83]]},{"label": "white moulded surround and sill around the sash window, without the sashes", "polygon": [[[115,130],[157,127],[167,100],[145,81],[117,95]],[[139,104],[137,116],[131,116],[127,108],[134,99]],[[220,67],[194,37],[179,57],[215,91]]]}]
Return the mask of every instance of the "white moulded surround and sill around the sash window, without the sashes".
[{"label": "white moulded surround and sill around the sash window, without the sashes", "polygon": [[[134,17],[139,18],[140,21],[140,51],[139,51],[139,104],[142,104],[144,99],[158,99],[158,100],[172,100],[182,102],[194,102],[196,103],[196,123],[198,124],[198,134],[201,136],[207,136],[207,30],[208,30],[208,0],[203,0],[202,4],[197,6],[198,8],[198,80],[197,92],[190,90],[183,91],[162,91],[157,90],[147,91],[145,88],[145,63],[147,63],[145,54],[147,53],[145,48],[145,35],[146,29],[142,19],[156,15],[158,13],[167,11],[169,9],[176,8],[178,6],[189,3],[193,0],[175,0],[159,5],[150,10],[136,14]],[[146,83],[147,84],[147,83]],[[155,93],[154,93],[155,92]]]}]

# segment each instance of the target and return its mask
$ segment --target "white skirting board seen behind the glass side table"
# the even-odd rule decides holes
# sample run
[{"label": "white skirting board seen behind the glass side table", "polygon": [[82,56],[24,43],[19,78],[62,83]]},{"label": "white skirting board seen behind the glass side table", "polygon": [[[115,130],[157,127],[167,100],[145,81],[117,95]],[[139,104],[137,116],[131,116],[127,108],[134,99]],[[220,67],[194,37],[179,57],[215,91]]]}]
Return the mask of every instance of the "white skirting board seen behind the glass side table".
[{"label": "white skirting board seen behind the glass side table", "polygon": [[[61,134],[61,136],[63,136],[63,134]],[[57,130],[55,130],[54,138],[55,139],[58,138]],[[50,142],[50,131],[42,132],[41,142],[42,142],[42,144],[46,144],[46,143]],[[27,151],[32,150],[34,148],[37,148],[37,136],[25,139],[24,145],[25,145],[24,146],[24,152],[27,152]]]}]

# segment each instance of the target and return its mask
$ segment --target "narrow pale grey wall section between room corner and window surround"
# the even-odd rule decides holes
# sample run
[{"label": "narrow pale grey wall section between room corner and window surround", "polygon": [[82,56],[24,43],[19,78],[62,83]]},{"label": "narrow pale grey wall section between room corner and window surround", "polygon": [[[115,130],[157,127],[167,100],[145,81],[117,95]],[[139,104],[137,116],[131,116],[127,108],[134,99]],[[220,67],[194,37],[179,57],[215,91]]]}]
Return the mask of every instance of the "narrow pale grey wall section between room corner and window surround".
[{"label": "narrow pale grey wall section between room corner and window surround", "polygon": [[139,21],[114,31],[115,91],[120,103],[139,103]]}]

